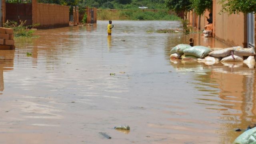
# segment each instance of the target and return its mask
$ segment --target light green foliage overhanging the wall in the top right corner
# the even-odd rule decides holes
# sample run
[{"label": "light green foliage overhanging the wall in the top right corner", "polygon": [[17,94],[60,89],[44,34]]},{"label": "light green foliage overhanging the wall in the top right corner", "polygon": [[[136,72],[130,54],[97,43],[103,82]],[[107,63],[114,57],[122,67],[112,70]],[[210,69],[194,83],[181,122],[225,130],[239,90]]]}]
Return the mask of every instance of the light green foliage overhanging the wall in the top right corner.
[{"label": "light green foliage overhanging the wall in the top right corner", "polygon": [[219,3],[222,4],[221,12],[229,14],[256,12],[256,0],[220,0]]}]

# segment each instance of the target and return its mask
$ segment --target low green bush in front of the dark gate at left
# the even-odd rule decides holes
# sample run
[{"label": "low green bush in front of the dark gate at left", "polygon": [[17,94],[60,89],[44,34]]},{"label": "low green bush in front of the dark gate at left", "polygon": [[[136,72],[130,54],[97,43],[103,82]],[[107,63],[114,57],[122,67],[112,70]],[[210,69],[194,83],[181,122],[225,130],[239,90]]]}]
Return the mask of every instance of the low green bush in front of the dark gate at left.
[{"label": "low green bush in front of the dark gate at left", "polygon": [[26,20],[20,21],[20,24],[18,25],[17,22],[14,21],[6,21],[6,23],[3,24],[3,27],[5,28],[12,28],[14,30],[14,36],[24,36],[24,37],[32,37],[33,36],[33,30],[29,30],[28,27],[32,26],[25,26]]}]

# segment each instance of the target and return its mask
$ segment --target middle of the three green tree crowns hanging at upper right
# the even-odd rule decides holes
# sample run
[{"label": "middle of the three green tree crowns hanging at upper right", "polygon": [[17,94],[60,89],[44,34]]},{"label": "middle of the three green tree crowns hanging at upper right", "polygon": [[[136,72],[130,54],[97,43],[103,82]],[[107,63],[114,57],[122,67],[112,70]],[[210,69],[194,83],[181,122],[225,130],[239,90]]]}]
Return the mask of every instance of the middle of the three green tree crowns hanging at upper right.
[{"label": "middle of the three green tree crowns hanging at upper right", "polygon": [[212,10],[212,0],[191,0],[196,14],[201,15],[205,10]]}]

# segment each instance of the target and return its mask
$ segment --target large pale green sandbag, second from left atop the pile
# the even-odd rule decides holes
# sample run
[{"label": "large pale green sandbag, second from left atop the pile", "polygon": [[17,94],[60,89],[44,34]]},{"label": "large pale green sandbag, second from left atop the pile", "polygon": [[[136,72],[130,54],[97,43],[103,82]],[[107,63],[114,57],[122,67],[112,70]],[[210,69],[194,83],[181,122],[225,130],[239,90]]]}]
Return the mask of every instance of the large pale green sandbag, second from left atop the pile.
[{"label": "large pale green sandbag, second from left atop the pile", "polygon": [[196,56],[197,58],[206,57],[212,50],[205,46],[193,46],[184,50],[184,54],[188,56]]}]

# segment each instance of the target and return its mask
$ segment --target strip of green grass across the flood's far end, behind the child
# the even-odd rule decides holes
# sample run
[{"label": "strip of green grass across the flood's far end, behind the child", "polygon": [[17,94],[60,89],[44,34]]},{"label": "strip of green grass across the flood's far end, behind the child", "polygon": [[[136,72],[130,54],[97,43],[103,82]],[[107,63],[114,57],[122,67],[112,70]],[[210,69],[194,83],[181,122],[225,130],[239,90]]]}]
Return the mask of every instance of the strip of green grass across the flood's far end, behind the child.
[{"label": "strip of green grass across the flood's far end, behind the child", "polygon": [[169,10],[98,10],[98,20],[180,20]]}]

